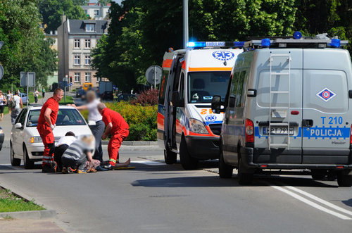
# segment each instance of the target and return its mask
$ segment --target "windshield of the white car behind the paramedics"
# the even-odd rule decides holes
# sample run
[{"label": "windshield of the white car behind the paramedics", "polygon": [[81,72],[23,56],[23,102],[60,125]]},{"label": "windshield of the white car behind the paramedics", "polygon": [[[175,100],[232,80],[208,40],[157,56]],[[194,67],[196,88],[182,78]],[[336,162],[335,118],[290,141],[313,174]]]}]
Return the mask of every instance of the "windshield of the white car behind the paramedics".
[{"label": "windshield of the white car behind the paramedics", "polygon": [[[40,109],[31,110],[27,118],[27,127],[37,127]],[[86,122],[76,109],[63,108],[58,110],[56,125],[86,125]]]}]

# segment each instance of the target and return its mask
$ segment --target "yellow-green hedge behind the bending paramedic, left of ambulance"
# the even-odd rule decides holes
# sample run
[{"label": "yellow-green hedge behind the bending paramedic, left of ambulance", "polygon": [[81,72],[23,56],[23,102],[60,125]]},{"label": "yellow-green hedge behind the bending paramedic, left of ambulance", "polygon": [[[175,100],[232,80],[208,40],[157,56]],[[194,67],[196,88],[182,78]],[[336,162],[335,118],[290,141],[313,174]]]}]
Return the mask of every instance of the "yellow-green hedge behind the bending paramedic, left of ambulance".
[{"label": "yellow-green hedge behind the bending paramedic, left of ambulance", "polygon": [[[117,111],[130,125],[128,141],[156,141],[156,115],[158,106],[140,106],[121,101],[105,103],[108,108]],[[88,112],[81,111],[87,119]]]}]

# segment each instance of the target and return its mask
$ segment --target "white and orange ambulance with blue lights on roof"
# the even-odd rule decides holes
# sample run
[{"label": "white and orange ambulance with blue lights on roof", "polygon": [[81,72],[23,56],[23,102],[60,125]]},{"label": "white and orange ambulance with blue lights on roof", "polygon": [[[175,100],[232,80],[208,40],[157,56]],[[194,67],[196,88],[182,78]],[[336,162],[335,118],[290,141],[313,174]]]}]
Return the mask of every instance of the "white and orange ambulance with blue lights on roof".
[{"label": "white and orange ambulance with blue lights on roof", "polygon": [[219,158],[223,114],[213,114],[214,94],[225,99],[238,47],[244,42],[189,42],[165,53],[158,99],[158,143],[165,163],[194,169],[199,160]]}]

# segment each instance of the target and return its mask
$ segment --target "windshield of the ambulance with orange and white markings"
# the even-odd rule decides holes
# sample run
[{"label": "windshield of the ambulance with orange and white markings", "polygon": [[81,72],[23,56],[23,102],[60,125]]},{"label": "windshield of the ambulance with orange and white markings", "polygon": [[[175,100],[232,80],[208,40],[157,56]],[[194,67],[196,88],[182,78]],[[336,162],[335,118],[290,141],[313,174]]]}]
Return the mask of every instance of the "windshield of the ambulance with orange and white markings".
[{"label": "windshield of the ambulance with orange and white markings", "polygon": [[229,80],[229,71],[188,73],[188,103],[211,103],[214,95],[224,100]]}]

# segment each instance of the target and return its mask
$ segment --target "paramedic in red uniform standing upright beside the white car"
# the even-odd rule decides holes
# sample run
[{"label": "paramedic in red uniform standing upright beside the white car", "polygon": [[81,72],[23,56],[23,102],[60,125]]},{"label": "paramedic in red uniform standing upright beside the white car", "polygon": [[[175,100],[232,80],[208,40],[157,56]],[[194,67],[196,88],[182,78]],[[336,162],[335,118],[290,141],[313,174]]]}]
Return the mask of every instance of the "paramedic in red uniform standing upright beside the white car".
[{"label": "paramedic in red uniform standing upright beside the white car", "polygon": [[53,156],[55,149],[53,130],[56,127],[58,102],[61,99],[63,99],[63,90],[57,88],[54,91],[54,95],[44,103],[40,111],[37,130],[44,144],[42,172],[55,172],[56,170],[56,163]]}]

